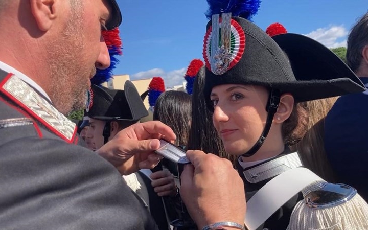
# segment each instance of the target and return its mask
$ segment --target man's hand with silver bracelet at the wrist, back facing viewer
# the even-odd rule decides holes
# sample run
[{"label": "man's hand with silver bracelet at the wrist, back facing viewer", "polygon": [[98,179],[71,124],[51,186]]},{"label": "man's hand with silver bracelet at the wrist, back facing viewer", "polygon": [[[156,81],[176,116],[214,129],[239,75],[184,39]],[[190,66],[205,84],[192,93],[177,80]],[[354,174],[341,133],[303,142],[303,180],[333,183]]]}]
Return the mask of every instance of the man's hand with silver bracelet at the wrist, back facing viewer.
[{"label": "man's hand with silver bracelet at the wrist, back facing viewer", "polygon": [[180,195],[199,229],[215,222],[244,224],[244,184],[229,160],[187,151],[192,165],[181,174]]}]

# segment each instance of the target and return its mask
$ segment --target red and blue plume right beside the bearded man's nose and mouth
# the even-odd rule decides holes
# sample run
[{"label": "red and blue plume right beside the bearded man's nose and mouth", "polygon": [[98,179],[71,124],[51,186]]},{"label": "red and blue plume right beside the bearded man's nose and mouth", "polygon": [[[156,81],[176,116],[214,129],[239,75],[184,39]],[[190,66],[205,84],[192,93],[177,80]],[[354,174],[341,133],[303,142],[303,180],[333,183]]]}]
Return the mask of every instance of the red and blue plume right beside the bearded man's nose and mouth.
[{"label": "red and blue plume right beside the bearded man's nose and mouth", "polygon": [[122,55],[122,41],[119,35],[119,28],[102,31],[102,36],[107,45],[108,52],[110,54],[111,64],[105,70],[96,70],[95,76],[91,79],[92,84],[101,85],[104,82],[109,81],[112,78],[112,71],[116,68],[119,63],[117,55]]}]

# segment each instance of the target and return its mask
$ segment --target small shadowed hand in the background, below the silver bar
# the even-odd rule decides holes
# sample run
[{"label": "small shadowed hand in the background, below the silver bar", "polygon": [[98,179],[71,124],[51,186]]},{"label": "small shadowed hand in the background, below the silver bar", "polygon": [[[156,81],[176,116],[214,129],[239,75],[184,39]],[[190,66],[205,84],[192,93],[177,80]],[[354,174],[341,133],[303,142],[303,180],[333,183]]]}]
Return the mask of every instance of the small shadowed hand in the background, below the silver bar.
[{"label": "small shadowed hand in the background, below the silver bar", "polygon": [[176,185],[174,176],[169,170],[161,170],[150,175],[151,185],[158,196],[175,196]]}]

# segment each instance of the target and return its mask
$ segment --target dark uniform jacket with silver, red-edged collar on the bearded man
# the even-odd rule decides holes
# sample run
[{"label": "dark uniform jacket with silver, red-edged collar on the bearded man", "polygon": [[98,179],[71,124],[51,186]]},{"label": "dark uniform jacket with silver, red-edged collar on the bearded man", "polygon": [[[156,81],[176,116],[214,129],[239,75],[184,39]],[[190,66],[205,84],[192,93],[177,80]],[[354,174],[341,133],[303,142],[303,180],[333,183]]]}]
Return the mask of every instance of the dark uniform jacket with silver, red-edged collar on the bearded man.
[{"label": "dark uniform jacket with silver, red-edged collar on the bearded man", "polygon": [[75,131],[0,71],[0,229],[156,229],[120,173],[74,144]]}]

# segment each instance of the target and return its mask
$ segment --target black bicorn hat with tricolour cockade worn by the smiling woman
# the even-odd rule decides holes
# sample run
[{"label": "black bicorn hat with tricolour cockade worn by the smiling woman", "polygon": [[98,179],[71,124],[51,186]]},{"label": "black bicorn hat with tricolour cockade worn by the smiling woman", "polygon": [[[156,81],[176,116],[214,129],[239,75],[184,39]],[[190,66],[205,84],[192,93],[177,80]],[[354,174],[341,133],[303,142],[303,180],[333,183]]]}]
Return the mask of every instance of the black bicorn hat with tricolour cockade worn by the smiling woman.
[{"label": "black bicorn hat with tricolour cockade worn by the smiling woman", "polygon": [[291,93],[296,102],[365,89],[350,68],[319,42],[297,34],[271,38],[252,22],[228,14],[213,17],[207,25],[203,57],[209,108],[213,108],[209,101],[212,88],[222,84],[278,89]]}]

